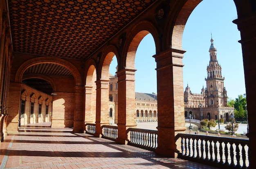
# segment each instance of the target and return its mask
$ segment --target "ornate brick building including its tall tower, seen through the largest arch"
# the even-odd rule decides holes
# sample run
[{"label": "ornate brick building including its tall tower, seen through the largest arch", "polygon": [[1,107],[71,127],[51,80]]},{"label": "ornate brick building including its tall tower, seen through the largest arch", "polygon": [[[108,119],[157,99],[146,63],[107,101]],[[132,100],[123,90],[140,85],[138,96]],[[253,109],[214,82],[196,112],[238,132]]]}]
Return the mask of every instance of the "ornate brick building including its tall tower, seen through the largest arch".
[{"label": "ornate brick building including its tall tower, seen through the largest arch", "polygon": [[227,104],[225,78],[222,77],[221,66],[217,60],[217,49],[212,38],[209,53],[210,61],[205,78],[206,88],[203,86],[200,94],[194,94],[187,85],[184,91],[185,118],[191,117],[197,120],[224,119],[227,122],[231,113],[234,113],[234,107]]}]

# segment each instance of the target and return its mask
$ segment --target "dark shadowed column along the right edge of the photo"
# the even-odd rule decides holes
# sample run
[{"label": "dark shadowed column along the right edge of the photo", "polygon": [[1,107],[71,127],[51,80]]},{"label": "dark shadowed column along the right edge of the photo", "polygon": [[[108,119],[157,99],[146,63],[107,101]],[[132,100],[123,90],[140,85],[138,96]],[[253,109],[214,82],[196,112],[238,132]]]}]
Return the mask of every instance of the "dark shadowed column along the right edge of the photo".
[{"label": "dark shadowed column along the right edge of the photo", "polygon": [[251,15],[238,17],[233,21],[238,25],[238,30],[241,34],[241,40],[243,52],[243,62],[245,71],[245,87],[246,87],[246,98],[247,98],[247,113],[248,113],[248,124],[249,124],[249,168],[255,168],[256,160],[254,160],[256,152],[256,127],[254,125],[256,119],[255,113],[255,77],[256,77],[256,13]]}]

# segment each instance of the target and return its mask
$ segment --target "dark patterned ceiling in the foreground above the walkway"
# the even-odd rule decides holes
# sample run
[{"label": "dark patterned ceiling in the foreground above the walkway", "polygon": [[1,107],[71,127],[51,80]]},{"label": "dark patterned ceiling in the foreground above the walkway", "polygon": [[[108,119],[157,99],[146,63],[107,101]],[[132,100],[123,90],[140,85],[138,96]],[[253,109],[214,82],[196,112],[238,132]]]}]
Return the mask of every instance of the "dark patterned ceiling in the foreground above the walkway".
[{"label": "dark patterned ceiling in the foreground above the walkway", "polygon": [[9,0],[13,50],[86,59],[155,0]]}]

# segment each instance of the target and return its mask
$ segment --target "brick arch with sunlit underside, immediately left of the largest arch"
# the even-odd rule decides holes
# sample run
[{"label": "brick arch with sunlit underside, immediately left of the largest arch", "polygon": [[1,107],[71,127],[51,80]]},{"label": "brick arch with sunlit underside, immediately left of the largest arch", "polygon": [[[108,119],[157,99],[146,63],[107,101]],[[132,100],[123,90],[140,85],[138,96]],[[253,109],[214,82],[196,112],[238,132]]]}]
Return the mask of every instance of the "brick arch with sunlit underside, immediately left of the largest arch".
[{"label": "brick arch with sunlit underside, immediately left of the largest arch", "polygon": [[118,70],[121,70],[122,68],[135,68],[135,54],[137,48],[141,40],[149,33],[151,33],[155,41],[156,51],[160,50],[160,41],[159,38],[157,38],[159,35],[156,27],[151,22],[141,21],[134,26],[127,35],[128,39],[126,40],[126,44],[124,45],[125,48],[122,53],[122,56],[126,57],[123,57],[123,60],[120,61],[120,69]]}]

